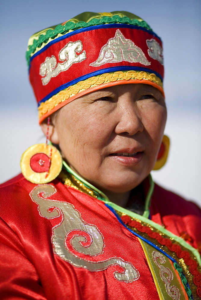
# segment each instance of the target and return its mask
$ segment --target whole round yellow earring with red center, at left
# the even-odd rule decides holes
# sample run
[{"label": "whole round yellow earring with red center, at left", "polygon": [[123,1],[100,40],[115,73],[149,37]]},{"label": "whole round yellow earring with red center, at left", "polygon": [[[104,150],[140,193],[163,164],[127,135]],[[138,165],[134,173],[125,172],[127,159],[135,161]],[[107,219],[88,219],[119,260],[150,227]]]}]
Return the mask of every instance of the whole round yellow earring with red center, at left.
[{"label": "whole round yellow earring with red center, at left", "polygon": [[60,152],[52,145],[36,144],[22,155],[20,167],[23,176],[30,182],[44,184],[54,180],[62,168]]}]

